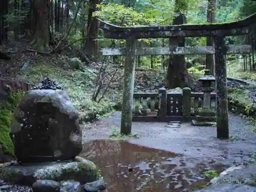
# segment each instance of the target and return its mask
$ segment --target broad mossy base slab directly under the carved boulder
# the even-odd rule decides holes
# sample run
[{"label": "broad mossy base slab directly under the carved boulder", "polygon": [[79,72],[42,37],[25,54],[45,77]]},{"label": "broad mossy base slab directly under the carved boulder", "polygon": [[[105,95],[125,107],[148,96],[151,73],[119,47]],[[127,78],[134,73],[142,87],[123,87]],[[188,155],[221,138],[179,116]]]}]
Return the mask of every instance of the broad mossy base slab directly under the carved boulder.
[{"label": "broad mossy base slab directly under the carved boulder", "polygon": [[23,163],[0,166],[0,180],[10,184],[31,186],[37,180],[78,181],[81,184],[97,180],[96,165],[81,157],[73,162]]}]

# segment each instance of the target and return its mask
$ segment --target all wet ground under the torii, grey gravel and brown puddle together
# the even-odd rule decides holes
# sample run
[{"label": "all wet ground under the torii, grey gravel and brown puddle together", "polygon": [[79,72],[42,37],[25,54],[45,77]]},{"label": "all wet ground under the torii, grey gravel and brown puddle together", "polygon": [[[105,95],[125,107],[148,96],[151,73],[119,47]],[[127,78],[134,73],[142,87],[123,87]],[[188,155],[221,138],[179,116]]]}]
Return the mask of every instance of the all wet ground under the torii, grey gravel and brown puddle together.
[{"label": "all wet ground under the torii, grey gravel and brown puddle together", "polygon": [[81,156],[102,169],[108,191],[193,191],[208,182],[205,170],[220,173],[250,160],[256,147],[253,127],[232,114],[229,122],[232,141],[217,139],[211,126],[134,122],[139,138],[124,142],[109,138],[120,127],[120,114],[114,114],[84,129]]}]

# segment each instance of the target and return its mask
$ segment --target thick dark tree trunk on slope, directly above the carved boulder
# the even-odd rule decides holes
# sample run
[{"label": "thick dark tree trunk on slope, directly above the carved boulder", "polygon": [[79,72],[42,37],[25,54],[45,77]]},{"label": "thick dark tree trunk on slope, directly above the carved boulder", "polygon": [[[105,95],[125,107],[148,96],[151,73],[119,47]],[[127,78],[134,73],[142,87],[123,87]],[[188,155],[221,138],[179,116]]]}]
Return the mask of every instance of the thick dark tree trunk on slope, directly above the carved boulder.
[{"label": "thick dark tree trunk on slope, directly above the carved boulder", "polygon": [[38,51],[45,52],[49,49],[49,13],[50,0],[38,0],[36,2],[37,21],[33,43]]}]

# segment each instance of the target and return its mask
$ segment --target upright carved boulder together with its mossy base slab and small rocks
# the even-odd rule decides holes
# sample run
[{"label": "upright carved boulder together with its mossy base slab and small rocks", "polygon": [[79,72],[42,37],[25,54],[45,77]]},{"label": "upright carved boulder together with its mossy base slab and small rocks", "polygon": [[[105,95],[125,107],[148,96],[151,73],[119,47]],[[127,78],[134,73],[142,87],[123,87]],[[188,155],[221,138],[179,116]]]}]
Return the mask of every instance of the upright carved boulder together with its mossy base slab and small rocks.
[{"label": "upright carved boulder together with its mossy base slab and small rocks", "polygon": [[105,188],[96,165],[78,156],[78,112],[55,81],[45,78],[24,96],[11,120],[10,136],[17,160],[0,166],[0,181],[7,183],[0,182],[0,188],[5,191],[17,185],[32,187],[33,192]]}]

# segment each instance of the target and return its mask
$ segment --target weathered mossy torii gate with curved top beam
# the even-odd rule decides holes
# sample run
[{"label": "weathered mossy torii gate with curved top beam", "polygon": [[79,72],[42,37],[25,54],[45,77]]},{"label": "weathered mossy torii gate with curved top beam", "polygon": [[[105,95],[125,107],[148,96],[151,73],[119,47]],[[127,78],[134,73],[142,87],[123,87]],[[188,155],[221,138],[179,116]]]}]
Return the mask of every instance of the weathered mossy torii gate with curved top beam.
[{"label": "weathered mossy torii gate with curved top beam", "polygon": [[[178,25],[165,27],[119,27],[99,19],[105,38],[126,39],[124,49],[103,49],[103,55],[125,55],[121,133],[130,134],[132,129],[132,106],[135,76],[135,55],[170,54],[215,54],[216,101],[217,101],[217,137],[227,139],[227,69],[228,53],[250,53],[251,46],[226,46],[225,36],[246,35],[255,32],[256,13],[237,22],[205,25]],[[171,37],[214,37],[214,46],[208,47],[166,47],[137,48],[136,39]],[[253,36],[252,36],[253,39]],[[254,41],[254,40],[253,40]]]}]

